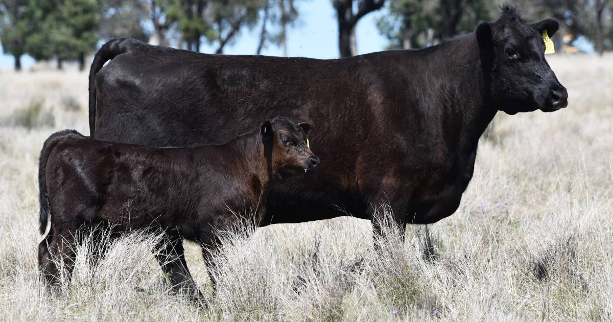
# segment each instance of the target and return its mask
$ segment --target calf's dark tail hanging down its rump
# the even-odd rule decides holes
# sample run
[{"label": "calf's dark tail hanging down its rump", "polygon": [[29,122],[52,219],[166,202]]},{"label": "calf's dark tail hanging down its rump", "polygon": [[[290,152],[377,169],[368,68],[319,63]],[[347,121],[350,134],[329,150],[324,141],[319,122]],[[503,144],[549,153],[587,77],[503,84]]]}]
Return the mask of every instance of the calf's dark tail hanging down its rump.
[{"label": "calf's dark tail hanging down its rump", "polygon": [[47,229],[47,221],[49,220],[49,199],[47,195],[47,159],[51,154],[51,150],[62,139],[83,137],[82,134],[74,129],[66,129],[51,134],[45,143],[42,145],[39,158],[39,205],[40,205],[40,234],[44,234]]}]

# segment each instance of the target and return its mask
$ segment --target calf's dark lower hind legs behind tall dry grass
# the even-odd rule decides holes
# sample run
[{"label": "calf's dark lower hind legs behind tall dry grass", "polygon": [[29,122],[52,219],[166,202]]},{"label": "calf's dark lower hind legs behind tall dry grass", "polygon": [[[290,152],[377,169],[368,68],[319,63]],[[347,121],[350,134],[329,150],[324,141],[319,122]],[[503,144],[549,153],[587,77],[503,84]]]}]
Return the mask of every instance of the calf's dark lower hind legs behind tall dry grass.
[{"label": "calf's dark lower hind legs behind tall dry grass", "polygon": [[75,258],[77,243],[74,233],[58,233],[52,227],[39,243],[39,269],[44,282],[50,286],[59,286],[62,277],[70,282]]}]

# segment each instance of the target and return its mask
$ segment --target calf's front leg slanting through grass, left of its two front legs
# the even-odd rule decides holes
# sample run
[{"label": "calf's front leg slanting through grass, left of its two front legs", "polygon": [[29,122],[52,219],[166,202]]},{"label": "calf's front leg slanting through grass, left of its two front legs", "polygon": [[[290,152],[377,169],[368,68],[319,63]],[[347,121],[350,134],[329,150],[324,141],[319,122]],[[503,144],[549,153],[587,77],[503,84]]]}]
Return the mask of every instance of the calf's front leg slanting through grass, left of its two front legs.
[{"label": "calf's front leg slanting through grass, left of its two front legs", "polygon": [[164,274],[169,278],[172,288],[188,295],[192,300],[203,302],[204,296],[189,273],[183,242],[178,232],[167,231],[159,245],[160,251],[156,254],[156,258]]}]

